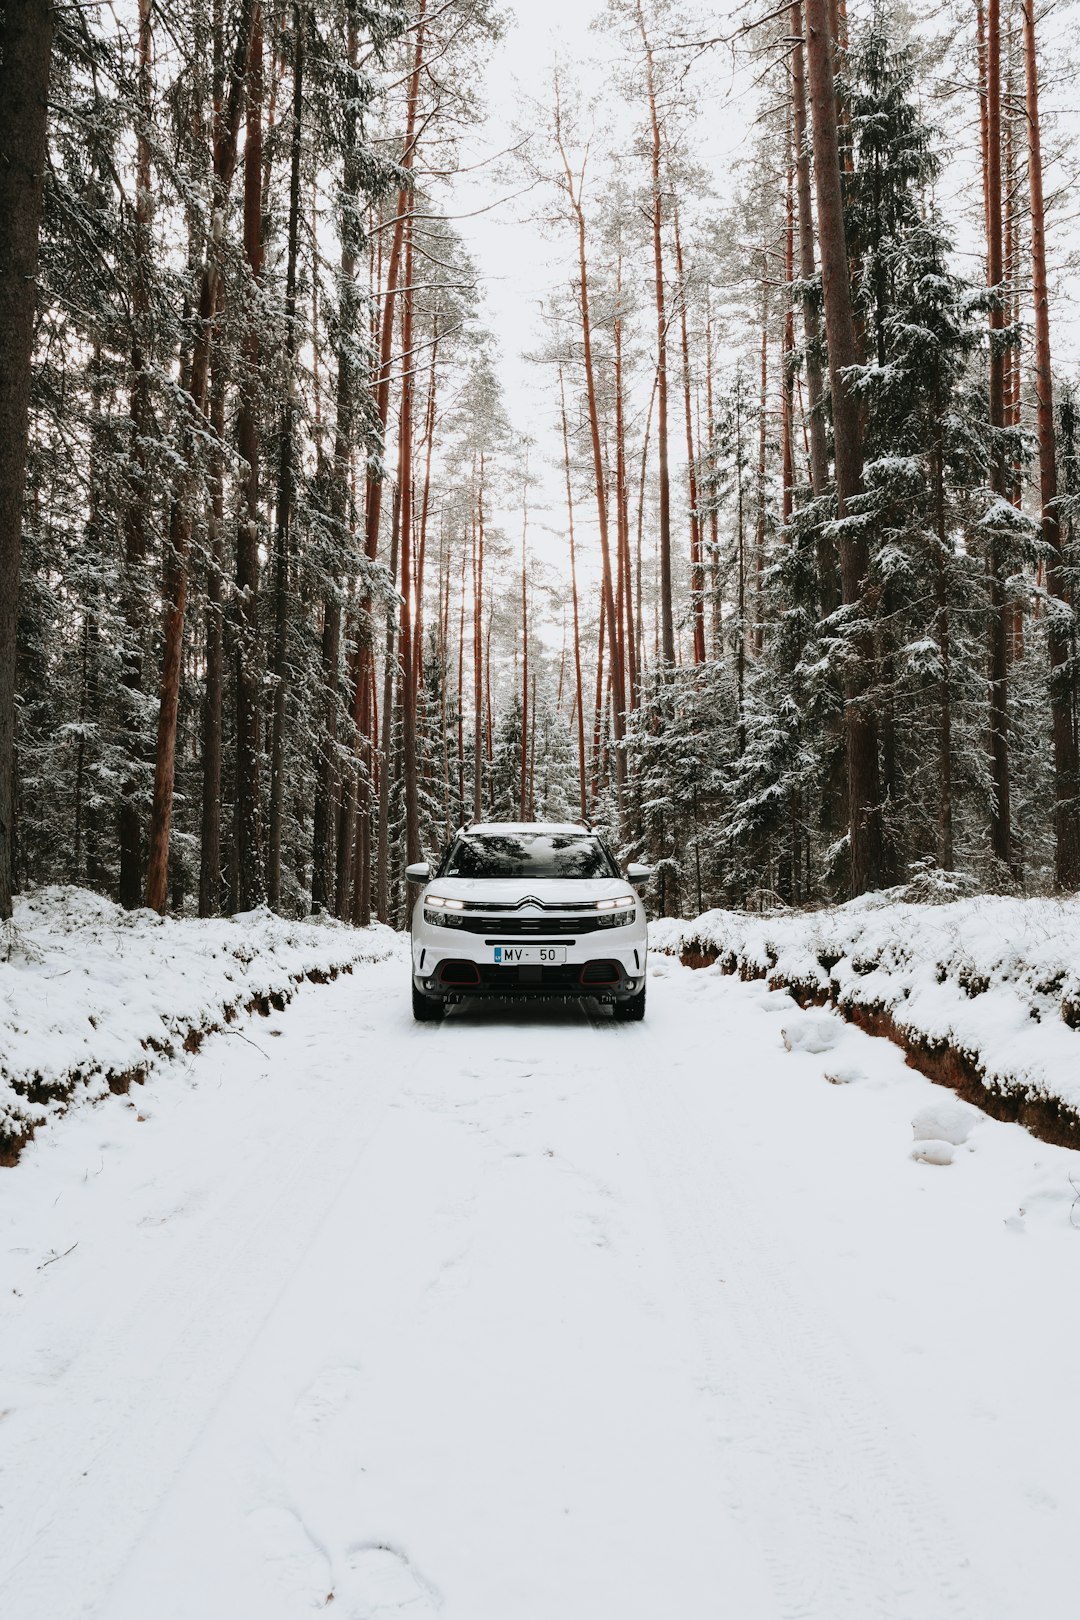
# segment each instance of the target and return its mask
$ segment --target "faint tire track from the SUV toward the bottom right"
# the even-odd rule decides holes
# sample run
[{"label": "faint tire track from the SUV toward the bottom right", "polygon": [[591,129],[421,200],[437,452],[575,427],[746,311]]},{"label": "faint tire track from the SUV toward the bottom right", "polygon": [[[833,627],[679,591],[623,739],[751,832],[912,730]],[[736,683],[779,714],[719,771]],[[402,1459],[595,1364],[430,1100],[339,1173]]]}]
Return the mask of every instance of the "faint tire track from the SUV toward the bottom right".
[{"label": "faint tire track from the SUV toward the bottom right", "polygon": [[[680,1004],[682,1019],[711,1011]],[[725,1448],[737,1511],[763,1539],[787,1620],[984,1620],[993,1604],[973,1589],[916,1460],[899,1435],[882,1437],[887,1401],[806,1298],[737,1144],[725,1150],[695,1121],[677,1074],[661,1079],[661,1030],[620,1037],[627,1110],[701,1336],[706,1398],[719,1432],[730,1437],[733,1419],[738,1435]],[[714,1045],[709,1030],[701,1050]]]}]

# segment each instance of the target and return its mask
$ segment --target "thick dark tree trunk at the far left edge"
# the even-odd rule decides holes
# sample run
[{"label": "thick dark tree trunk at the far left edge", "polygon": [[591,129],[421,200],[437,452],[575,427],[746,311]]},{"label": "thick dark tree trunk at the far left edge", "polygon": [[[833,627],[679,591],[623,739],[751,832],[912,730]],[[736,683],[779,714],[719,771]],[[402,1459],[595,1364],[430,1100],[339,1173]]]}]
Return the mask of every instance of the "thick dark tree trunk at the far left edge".
[{"label": "thick dark tree trunk at the far left edge", "polygon": [[15,865],[15,633],[53,8],[0,13],[0,920]]}]

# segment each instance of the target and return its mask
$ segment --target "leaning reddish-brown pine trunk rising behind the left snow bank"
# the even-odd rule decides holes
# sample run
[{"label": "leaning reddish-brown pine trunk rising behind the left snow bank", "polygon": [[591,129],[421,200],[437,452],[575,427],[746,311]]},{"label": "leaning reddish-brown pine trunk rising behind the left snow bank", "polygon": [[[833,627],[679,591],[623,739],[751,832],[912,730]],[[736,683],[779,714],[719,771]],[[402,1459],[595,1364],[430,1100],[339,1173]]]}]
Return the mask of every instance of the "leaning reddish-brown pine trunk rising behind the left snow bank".
[{"label": "leaning reddish-brown pine trunk rising behind the left snow bank", "polygon": [[186,377],[186,415],[183,428],[183,467],[173,491],[168,523],[165,590],[164,590],[164,646],[160,700],[157,710],[157,742],[154,748],[154,805],[151,810],[151,836],[146,863],[146,904],[164,912],[168,901],[168,839],[173,818],[173,781],[176,771],[176,716],[180,710],[180,666],[183,656],[185,614],[188,608],[188,559],[194,525],[194,434],[207,413],[207,389],[210,368],[210,342],[214,319],[222,296],[220,232],[223,209],[236,168],[236,139],[240,115],[244,105],[248,57],[256,0],[241,0],[236,24],[236,42],[230,62],[230,83],[220,134],[214,151],[214,227],[206,248],[206,261],[199,277],[199,306]]}]

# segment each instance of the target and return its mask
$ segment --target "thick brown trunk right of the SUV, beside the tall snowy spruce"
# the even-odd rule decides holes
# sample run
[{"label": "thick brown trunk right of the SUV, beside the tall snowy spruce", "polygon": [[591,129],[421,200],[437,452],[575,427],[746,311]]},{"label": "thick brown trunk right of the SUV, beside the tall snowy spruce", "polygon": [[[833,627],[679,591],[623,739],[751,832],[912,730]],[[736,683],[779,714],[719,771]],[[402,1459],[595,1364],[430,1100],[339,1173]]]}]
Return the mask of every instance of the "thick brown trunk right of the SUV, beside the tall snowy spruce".
[{"label": "thick brown trunk right of the SUV, beside the tall snowy spruce", "polygon": [[[837,512],[844,518],[850,501],[861,489],[863,433],[860,403],[848,371],[858,361],[858,352],[840,190],[836,76],[832,71],[834,42],[829,34],[827,10],[827,0],[806,0],[806,55],[813,110],[821,280],[832,387],[836,494]],[[866,611],[868,569],[870,554],[865,535],[858,528],[845,526],[840,541],[840,588],[847,606],[861,606]],[[878,716],[871,693],[873,654],[873,633],[863,630],[850,648],[844,672],[852,894],[879,888],[884,872]]]}]

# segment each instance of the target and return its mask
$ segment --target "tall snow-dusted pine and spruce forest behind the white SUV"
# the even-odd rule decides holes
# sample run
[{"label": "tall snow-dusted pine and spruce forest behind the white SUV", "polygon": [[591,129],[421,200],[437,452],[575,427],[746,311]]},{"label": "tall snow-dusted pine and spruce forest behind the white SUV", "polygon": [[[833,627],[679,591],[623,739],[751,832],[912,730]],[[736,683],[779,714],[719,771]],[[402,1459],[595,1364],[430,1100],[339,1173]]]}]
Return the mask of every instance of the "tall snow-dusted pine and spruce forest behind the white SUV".
[{"label": "tall snow-dusted pine and spruce forest behind the white SUV", "polygon": [[594,10],[479,173],[526,337],[494,0],[3,6],[0,919],[400,925],[481,818],[667,915],[1080,888],[1059,11]]}]

